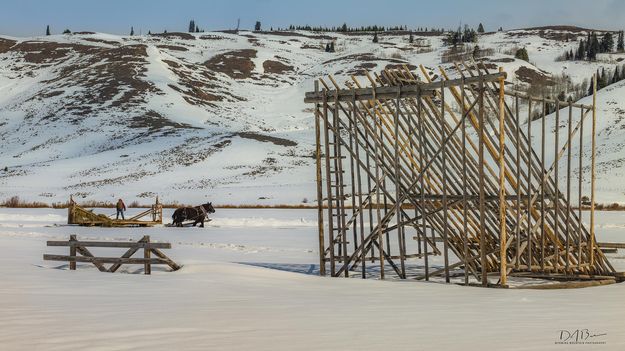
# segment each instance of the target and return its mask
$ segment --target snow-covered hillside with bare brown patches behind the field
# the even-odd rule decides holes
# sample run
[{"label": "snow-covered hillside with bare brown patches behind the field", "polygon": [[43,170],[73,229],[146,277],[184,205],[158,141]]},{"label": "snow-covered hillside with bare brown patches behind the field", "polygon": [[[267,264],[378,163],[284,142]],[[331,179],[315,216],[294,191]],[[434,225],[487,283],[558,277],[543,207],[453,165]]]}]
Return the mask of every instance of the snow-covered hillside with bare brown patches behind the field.
[{"label": "snow-covered hillside with bare brown patches behind the field", "polygon": [[[0,199],[149,203],[297,204],[315,197],[315,77],[389,65],[434,70],[443,37],[312,32],[75,33],[0,37]],[[586,32],[575,28],[485,34],[486,60],[509,81],[574,83],[623,56],[556,62]],[[336,40],[336,52],[325,44]],[[530,62],[514,59],[526,47]],[[625,85],[599,94],[599,201],[622,201]],[[619,137],[621,140],[619,140]],[[6,168],[5,168],[6,167]]]}]

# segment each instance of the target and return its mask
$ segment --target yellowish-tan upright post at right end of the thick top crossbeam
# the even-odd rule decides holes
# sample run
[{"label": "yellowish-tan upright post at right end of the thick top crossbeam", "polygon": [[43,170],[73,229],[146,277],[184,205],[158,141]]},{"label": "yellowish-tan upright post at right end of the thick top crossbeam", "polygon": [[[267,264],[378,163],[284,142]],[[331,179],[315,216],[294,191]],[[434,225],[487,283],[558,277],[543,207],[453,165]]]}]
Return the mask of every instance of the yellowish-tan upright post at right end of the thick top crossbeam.
[{"label": "yellowish-tan upright post at right end of the thick top crossbeam", "polygon": [[[503,72],[503,67],[499,67],[499,72]],[[504,78],[502,77],[499,79],[499,275],[501,285],[506,285],[508,280],[506,262],[506,163],[504,161],[506,130],[504,126],[504,103]]]}]

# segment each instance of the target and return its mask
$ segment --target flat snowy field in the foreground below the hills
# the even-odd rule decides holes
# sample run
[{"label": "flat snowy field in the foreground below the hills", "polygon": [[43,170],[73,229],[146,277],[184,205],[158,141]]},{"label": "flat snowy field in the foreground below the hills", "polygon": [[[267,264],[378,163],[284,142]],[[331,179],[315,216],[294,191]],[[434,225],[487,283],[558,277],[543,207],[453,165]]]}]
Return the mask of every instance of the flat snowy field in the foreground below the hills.
[{"label": "flat snowy field in the foreground below the hills", "polygon": [[[64,226],[65,210],[0,208],[0,349],[625,349],[625,284],[515,290],[322,278],[316,211],[218,209],[213,218],[203,229],[84,228]],[[625,214],[599,212],[597,232],[625,242]],[[46,240],[69,234],[150,235],[171,242],[166,254],[184,267],[145,276],[142,266],[105,274],[43,261],[44,252],[67,254]],[[118,253],[104,250],[92,251]],[[622,252],[610,256],[625,270]],[[578,329],[595,344],[557,344],[562,330]]]}]

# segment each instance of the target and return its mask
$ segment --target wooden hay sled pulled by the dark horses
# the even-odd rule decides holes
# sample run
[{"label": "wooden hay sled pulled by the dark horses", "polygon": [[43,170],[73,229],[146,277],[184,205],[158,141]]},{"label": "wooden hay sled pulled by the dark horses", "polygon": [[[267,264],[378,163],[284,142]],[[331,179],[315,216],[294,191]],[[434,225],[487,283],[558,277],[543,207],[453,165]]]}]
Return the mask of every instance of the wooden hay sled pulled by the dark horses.
[{"label": "wooden hay sled pulled by the dark horses", "polygon": [[149,209],[128,219],[113,219],[78,206],[70,197],[67,208],[67,224],[99,227],[152,227],[156,224],[163,224],[163,205],[157,197],[154,205]]}]

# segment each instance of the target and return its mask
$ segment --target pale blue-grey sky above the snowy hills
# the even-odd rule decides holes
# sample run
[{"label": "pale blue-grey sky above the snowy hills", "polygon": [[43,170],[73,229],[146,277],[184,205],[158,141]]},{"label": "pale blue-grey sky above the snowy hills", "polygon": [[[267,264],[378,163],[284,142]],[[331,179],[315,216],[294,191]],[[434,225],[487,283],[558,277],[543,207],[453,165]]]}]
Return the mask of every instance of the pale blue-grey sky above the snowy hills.
[{"label": "pale blue-grey sky above the snowy hills", "polygon": [[407,25],[486,30],[567,24],[625,28],[625,0],[0,0],[0,34],[33,36],[65,28],[127,34],[185,31],[190,19],[209,30],[289,24]]}]

